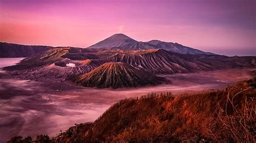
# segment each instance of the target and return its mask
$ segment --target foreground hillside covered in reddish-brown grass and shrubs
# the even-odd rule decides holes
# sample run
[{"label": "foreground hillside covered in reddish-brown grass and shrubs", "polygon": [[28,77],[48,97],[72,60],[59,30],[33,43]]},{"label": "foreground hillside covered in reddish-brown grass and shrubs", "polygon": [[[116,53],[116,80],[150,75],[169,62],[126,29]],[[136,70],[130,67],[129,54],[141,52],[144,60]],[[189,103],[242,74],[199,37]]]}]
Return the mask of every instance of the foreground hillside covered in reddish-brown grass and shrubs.
[{"label": "foreground hillside covered in reddish-brown grass and shrubs", "polygon": [[124,99],[93,123],[72,126],[53,139],[41,135],[36,142],[255,142],[255,96],[256,78],[190,96]]}]

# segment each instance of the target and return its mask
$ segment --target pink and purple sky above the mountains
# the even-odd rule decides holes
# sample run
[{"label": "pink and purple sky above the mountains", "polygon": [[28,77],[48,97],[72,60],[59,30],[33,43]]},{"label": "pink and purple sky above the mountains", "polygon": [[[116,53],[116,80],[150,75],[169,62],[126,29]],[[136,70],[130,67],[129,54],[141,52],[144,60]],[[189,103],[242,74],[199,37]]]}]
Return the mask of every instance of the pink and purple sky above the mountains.
[{"label": "pink and purple sky above the mountains", "polygon": [[[256,1],[0,0],[0,41],[88,47],[115,33],[256,55]],[[243,53],[241,53],[243,52]]]}]

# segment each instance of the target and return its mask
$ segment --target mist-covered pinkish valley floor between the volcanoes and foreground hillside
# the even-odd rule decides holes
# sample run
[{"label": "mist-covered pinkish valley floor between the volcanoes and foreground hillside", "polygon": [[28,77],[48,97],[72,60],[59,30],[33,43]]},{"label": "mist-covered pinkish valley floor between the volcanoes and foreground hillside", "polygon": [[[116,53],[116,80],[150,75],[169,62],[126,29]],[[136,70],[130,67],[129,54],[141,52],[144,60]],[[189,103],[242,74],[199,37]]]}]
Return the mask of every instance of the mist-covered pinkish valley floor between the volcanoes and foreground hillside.
[{"label": "mist-covered pinkish valley floor between the volcanoes and foreground hillside", "polygon": [[[0,142],[15,135],[56,136],[76,123],[94,121],[120,99],[149,92],[171,91],[174,95],[198,90],[222,89],[247,80],[253,69],[232,69],[166,76],[172,84],[129,89],[96,89],[66,82],[41,83],[29,80],[0,81]],[[160,75],[163,76],[163,75]]]}]

